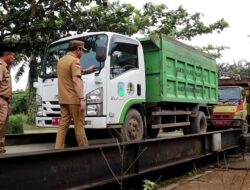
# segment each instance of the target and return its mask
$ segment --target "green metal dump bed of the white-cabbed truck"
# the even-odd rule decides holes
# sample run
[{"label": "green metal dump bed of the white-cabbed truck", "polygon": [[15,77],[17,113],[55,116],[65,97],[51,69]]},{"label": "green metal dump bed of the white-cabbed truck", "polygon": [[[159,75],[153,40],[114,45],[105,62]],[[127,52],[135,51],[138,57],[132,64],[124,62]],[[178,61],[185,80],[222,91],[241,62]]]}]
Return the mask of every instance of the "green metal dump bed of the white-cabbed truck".
[{"label": "green metal dump bed of the white-cabbed truck", "polygon": [[147,102],[216,104],[215,59],[163,34],[142,38]]}]

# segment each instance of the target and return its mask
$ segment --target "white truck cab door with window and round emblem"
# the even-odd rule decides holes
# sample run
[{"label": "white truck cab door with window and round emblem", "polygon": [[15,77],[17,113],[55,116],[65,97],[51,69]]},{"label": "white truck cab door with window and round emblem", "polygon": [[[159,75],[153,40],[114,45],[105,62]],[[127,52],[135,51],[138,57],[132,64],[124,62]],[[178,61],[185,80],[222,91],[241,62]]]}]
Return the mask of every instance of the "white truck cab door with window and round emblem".
[{"label": "white truck cab door with window and round emblem", "polygon": [[139,56],[139,43],[113,36],[110,50],[110,75],[107,85],[107,120],[121,124],[129,107],[145,99],[145,72]]}]

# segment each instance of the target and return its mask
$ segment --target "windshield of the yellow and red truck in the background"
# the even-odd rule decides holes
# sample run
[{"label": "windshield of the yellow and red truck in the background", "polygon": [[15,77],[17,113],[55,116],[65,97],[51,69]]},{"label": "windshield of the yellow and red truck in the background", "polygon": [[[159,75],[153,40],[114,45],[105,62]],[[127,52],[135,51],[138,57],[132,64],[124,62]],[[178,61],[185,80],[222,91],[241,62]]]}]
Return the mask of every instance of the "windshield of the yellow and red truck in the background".
[{"label": "windshield of the yellow and red truck in the background", "polygon": [[241,99],[241,91],[239,87],[220,87],[219,101],[239,101]]}]

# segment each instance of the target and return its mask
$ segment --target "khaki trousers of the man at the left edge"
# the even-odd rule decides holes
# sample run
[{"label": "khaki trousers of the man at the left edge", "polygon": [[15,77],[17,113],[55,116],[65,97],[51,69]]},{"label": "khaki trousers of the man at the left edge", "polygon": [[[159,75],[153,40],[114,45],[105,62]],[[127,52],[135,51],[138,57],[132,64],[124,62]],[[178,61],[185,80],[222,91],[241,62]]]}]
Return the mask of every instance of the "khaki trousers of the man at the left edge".
[{"label": "khaki trousers of the man at the left edge", "polygon": [[0,153],[5,152],[5,130],[8,122],[9,103],[0,98]]}]

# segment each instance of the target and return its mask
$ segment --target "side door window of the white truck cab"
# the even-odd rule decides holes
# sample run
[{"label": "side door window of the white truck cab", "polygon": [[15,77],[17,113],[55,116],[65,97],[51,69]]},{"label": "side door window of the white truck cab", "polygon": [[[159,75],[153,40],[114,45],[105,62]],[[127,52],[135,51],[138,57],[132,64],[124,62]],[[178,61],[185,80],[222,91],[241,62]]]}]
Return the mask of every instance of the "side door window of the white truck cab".
[{"label": "side door window of the white truck cab", "polygon": [[110,78],[115,78],[125,72],[138,69],[137,46],[120,43],[111,54]]}]

